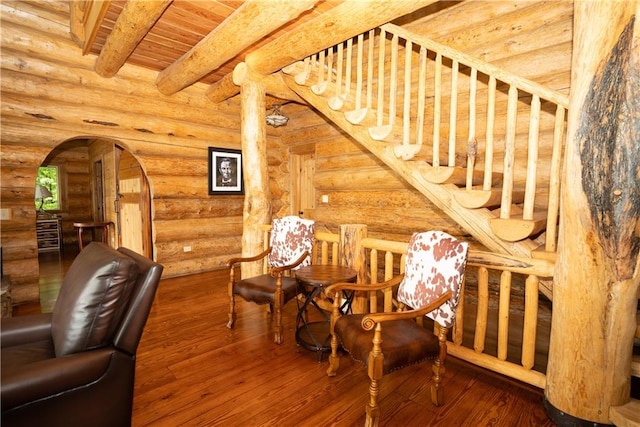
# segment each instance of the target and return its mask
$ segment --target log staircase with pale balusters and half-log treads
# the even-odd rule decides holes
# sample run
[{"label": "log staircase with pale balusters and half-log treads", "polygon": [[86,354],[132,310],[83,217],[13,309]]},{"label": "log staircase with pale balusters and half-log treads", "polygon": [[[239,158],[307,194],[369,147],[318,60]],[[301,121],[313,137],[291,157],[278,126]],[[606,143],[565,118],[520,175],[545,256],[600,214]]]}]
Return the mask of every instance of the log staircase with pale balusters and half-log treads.
[{"label": "log staircase with pale balusters and half-log treads", "polygon": [[392,24],[282,71],[487,248],[555,259],[566,96]]}]

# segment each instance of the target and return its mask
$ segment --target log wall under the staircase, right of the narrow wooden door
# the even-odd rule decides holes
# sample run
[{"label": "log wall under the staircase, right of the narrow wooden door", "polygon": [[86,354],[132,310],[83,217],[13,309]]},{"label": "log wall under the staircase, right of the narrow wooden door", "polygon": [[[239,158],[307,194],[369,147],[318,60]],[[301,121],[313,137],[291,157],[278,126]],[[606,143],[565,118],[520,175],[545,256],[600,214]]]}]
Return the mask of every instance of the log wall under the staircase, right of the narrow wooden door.
[{"label": "log wall under the staircase, right of the narrow wooden door", "polygon": [[[325,120],[306,110],[292,114],[283,147],[315,144],[316,208],[305,216],[320,230],[339,232],[340,224],[367,224],[369,237],[408,241],[413,232],[464,230],[424,196],[408,186],[372,154]],[[322,202],[328,197],[328,203]],[[288,196],[287,196],[288,197]]]}]

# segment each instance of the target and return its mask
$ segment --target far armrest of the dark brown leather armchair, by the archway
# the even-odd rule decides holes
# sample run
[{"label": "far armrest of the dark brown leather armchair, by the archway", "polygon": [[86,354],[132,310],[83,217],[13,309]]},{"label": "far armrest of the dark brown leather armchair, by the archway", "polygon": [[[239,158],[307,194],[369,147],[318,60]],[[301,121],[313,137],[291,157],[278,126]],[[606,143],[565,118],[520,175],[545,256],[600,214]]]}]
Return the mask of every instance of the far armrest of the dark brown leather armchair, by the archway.
[{"label": "far armrest of the dark brown leather armchair, by the archway", "polygon": [[0,327],[2,347],[13,347],[47,339],[51,339],[51,313],[2,319]]}]

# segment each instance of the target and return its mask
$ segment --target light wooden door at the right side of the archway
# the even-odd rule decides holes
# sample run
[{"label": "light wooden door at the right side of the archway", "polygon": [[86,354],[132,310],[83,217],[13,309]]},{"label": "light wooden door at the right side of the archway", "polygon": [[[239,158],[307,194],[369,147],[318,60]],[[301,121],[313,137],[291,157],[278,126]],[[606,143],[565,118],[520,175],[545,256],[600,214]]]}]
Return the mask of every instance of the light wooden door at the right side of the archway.
[{"label": "light wooden door at the right side of the archway", "polygon": [[152,258],[149,184],[140,164],[127,151],[120,154],[116,204],[118,244]]}]

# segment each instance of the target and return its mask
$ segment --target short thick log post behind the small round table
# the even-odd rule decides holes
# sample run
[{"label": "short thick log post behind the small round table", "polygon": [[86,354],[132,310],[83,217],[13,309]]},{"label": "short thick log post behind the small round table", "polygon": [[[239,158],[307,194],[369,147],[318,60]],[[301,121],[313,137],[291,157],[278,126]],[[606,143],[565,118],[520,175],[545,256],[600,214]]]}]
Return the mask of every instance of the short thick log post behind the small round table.
[{"label": "short thick log post behind the small round table", "polygon": [[[364,283],[366,277],[365,254],[362,247],[362,239],[367,237],[365,224],[340,225],[339,251],[340,265],[351,267],[358,272],[358,283]],[[367,295],[358,292],[353,300],[354,313],[364,313],[367,303]]]}]

